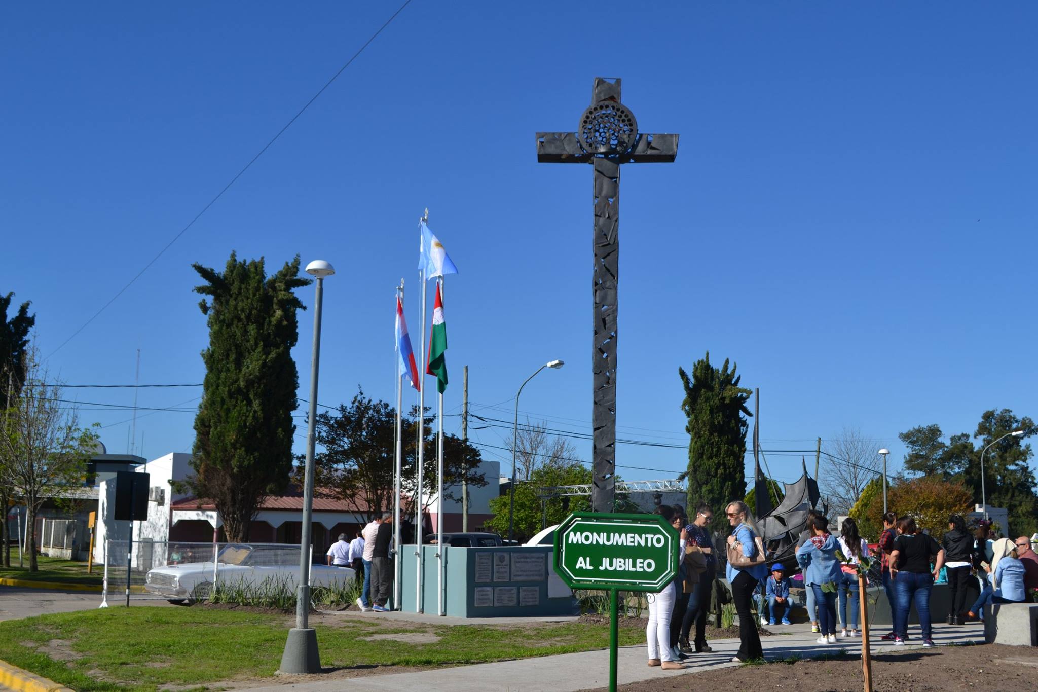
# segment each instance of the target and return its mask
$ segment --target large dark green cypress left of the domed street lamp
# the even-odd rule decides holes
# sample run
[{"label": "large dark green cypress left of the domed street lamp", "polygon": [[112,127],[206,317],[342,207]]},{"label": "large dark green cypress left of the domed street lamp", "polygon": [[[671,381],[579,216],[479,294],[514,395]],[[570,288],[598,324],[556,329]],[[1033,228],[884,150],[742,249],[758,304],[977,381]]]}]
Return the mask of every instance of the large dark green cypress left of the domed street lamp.
[{"label": "large dark green cypress left of the domed street lamp", "polygon": [[223,519],[228,541],[248,541],[256,507],[282,492],[292,473],[299,376],[292,348],[299,339],[293,293],[310,283],[299,276],[299,256],[267,276],[264,259],[239,261],[222,273],[192,265],[209,296],[204,389],[195,417],[194,475],[181,487],[208,498]]}]

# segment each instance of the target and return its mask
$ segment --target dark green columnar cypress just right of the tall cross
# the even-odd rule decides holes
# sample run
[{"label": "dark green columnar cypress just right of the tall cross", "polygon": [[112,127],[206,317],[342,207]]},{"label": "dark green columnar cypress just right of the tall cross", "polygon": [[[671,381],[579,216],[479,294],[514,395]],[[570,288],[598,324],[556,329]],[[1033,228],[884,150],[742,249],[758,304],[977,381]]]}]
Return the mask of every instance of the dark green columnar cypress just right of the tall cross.
[{"label": "dark green columnar cypress just right of the tall cross", "polygon": [[746,431],[743,416],[752,416],[746,400],[753,393],[739,386],[736,365],[729,369],[710,364],[710,353],[692,364],[692,377],[678,368],[685,388],[681,409],[688,416],[688,506],[700,502],[720,509],[732,500],[745,497],[744,476]]}]

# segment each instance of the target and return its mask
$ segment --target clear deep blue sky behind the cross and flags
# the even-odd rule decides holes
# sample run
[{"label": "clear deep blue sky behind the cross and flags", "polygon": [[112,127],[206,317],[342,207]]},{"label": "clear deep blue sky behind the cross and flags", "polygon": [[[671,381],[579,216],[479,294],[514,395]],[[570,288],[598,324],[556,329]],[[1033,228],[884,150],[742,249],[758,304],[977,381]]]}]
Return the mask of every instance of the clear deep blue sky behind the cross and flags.
[{"label": "clear deep blue sky behind the cross and flags", "polygon": [[[129,384],[140,349],[141,383],[201,382],[191,262],[222,267],[237,250],[273,268],[299,253],[338,270],[320,400],[358,385],[391,399],[393,288],[404,277],[417,348],[428,206],[462,272],[445,290],[448,412],[464,364],[473,410],[510,419],[523,379],[561,358],[521,408],[585,432],[592,171],[538,164],[535,133],[574,130],[606,76],[623,78],[643,132],[681,134],[676,163],[622,172],[621,437],[687,443],[677,370],[706,351],[761,388],[766,449],[856,427],[899,461],[897,434],[913,425],[973,433],[987,408],[1038,412],[1038,8],[1027,3],[413,0],[55,352],[399,4],[0,9],[0,290],[33,302],[54,372]],[[295,352],[303,397],[311,317]],[[133,403],[132,390],[69,393]],[[144,389],[138,405],[191,409],[199,393]],[[125,451],[130,412],[84,408]],[[145,455],[190,449],[189,411],[148,413]],[[506,434],[473,438],[503,446]],[[590,460],[590,444],[577,448]],[[769,461],[776,477],[797,475],[798,456]],[[686,462],[682,448],[618,453],[656,469],[621,468],[627,478]]]}]

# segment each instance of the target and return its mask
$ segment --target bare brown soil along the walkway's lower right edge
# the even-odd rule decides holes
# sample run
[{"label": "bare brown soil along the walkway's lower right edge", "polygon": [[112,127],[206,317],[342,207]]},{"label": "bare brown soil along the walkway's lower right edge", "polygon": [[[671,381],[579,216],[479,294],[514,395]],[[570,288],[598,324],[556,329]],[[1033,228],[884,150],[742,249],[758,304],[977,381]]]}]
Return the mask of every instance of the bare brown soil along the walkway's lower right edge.
[{"label": "bare brown soil along the walkway's lower right edge", "polygon": [[[1038,665],[1038,653],[1032,654],[1032,651],[1002,644],[938,646],[904,653],[891,653],[890,647],[885,647],[873,657],[873,689],[875,692],[1036,690],[1038,681],[1032,666]],[[721,668],[621,685],[617,689],[623,692],[668,692],[692,687],[710,692],[764,689],[859,692],[862,659],[847,656],[792,664],[774,662],[736,669]]]}]

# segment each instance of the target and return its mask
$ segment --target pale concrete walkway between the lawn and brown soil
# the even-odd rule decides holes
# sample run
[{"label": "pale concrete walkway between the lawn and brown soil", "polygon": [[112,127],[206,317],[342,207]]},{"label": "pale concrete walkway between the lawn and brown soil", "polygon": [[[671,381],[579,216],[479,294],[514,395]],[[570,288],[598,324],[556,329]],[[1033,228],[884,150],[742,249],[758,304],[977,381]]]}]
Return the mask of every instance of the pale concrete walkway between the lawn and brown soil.
[{"label": "pale concrete walkway between the lawn and brown soil", "polygon": [[[442,618],[439,620],[442,622]],[[765,657],[783,659],[792,656],[812,658],[839,654],[845,649],[848,654],[862,651],[862,640],[839,639],[837,644],[821,645],[815,642],[817,634],[811,633],[811,628],[804,625],[789,625],[768,627],[777,636],[764,637]],[[905,646],[894,646],[881,641],[879,637],[885,630],[877,631],[870,639],[874,655],[891,654],[922,647],[919,627],[908,631],[911,637]],[[933,639],[938,645],[964,644],[983,642],[984,631],[979,624],[963,627],[935,625]],[[619,651],[618,683],[636,683],[644,680],[688,675],[701,670],[726,668],[739,665],[730,659],[739,648],[738,639],[711,640],[711,654],[693,654],[685,661],[684,670],[660,670],[646,665],[646,647],[625,646]],[[392,673],[386,675],[368,675],[350,680],[334,680],[325,682],[307,682],[300,684],[274,685],[252,688],[254,691],[284,692],[285,690],[307,690],[313,692],[331,692],[349,688],[357,692],[425,692],[428,690],[452,690],[452,692],[511,692],[516,690],[550,690],[551,692],[576,692],[609,684],[609,653],[608,651],[583,652],[580,654],[564,654],[562,656],[545,656],[536,659],[518,661],[501,661],[498,663],[482,663],[472,666],[458,666],[421,672]]]}]

